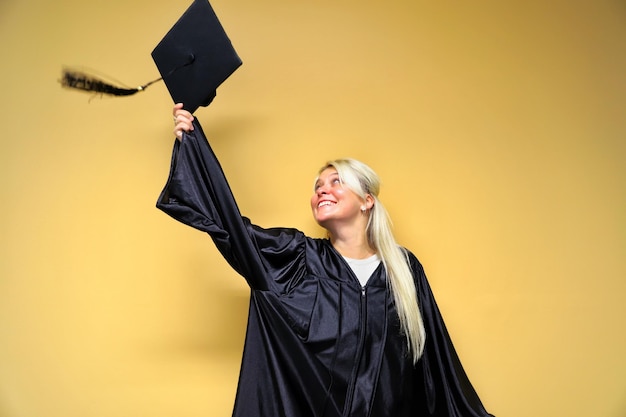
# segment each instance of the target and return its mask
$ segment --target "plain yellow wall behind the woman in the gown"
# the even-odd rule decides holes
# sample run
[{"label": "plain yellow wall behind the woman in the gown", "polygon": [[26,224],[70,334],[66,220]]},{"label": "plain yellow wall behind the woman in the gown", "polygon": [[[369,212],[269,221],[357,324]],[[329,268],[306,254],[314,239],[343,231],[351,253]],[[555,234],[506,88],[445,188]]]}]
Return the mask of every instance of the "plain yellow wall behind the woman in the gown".
[{"label": "plain yellow wall behind the woman in the gown", "polygon": [[[0,2],[0,416],[230,415],[247,291],[154,208],[191,1]],[[244,214],[321,231],[317,168],[382,176],[499,417],[626,415],[626,7],[609,0],[214,0],[244,65],[197,116]]]}]

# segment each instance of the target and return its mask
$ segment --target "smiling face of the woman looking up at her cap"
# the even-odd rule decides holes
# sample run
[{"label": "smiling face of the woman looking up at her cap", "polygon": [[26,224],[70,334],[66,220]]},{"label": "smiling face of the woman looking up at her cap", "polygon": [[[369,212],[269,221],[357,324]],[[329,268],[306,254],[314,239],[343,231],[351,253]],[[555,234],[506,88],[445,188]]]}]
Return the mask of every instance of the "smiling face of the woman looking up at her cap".
[{"label": "smiling face of the woman looking up at her cap", "polygon": [[335,168],[320,173],[311,196],[313,217],[320,226],[330,231],[339,224],[356,224],[364,217],[362,208],[370,207],[367,199],[361,199],[341,182]]}]

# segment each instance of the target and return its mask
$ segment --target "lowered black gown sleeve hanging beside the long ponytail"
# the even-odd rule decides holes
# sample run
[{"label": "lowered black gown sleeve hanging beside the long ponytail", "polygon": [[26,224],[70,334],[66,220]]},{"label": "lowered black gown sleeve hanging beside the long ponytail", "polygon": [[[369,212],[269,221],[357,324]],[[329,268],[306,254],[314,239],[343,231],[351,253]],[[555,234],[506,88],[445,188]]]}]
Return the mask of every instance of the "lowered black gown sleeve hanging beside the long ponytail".
[{"label": "lowered black gown sleeve hanging beside the long ponytail", "polygon": [[489,414],[472,386],[435,301],[426,274],[411,257],[420,311],[426,329],[426,345],[416,369],[416,395],[423,408],[420,416],[487,417]]}]

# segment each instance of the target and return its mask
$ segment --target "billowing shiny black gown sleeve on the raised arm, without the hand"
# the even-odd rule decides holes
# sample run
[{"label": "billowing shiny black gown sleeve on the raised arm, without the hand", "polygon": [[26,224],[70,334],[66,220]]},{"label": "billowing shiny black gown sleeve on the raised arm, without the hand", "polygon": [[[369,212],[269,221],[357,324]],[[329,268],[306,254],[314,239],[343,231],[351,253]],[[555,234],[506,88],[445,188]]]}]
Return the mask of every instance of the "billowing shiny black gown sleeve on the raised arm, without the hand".
[{"label": "billowing shiny black gown sleeve on the raised arm, without the hand", "polygon": [[[262,229],[241,216],[237,203],[197,119],[172,152],[170,173],[157,208],[207,232],[228,263],[254,289],[285,291],[298,278],[304,235],[295,229]],[[293,283],[292,283],[293,284]],[[273,285],[282,289],[270,288]]]}]

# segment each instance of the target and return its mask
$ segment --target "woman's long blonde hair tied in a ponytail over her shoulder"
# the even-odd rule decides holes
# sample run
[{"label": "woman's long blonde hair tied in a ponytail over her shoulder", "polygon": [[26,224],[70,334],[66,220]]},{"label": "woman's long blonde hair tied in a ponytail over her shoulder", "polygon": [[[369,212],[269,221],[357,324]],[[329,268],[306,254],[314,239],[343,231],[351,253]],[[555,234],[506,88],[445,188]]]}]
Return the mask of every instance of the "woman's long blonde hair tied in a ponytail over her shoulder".
[{"label": "woman's long blonde hair tied in a ponytail over her shoulder", "polygon": [[391,219],[378,200],[380,178],[369,166],[355,159],[337,159],[328,162],[319,172],[335,168],[342,184],[365,199],[374,199],[366,227],[369,244],[376,249],[387,271],[388,285],[393,294],[402,332],[413,362],[422,355],[426,332],[417,301],[417,290],[405,249],[396,243],[392,233]]}]

